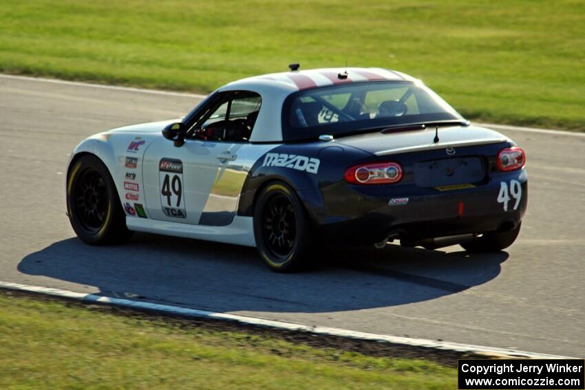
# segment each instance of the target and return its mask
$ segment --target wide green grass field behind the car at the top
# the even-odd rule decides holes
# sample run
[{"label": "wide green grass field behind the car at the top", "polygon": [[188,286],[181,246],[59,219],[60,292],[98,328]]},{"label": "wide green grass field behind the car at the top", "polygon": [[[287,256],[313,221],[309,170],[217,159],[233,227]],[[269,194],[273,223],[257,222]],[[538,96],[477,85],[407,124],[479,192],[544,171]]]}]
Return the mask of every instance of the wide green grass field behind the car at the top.
[{"label": "wide green grass field behind the car at the top", "polygon": [[303,68],[421,78],[467,118],[585,130],[585,2],[0,0],[0,71],[211,91]]}]

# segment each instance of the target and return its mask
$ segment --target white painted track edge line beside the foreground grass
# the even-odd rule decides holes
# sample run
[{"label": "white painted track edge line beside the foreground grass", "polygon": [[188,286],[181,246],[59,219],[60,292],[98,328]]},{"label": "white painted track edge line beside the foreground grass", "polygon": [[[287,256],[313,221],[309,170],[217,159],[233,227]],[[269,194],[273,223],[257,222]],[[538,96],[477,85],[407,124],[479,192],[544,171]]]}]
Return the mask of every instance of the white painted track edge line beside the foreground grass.
[{"label": "white painted track edge line beside the foreground grass", "polygon": [[96,294],[84,294],[83,292],[73,292],[68,290],[60,290],[58,288],[46,288],[36,285],[25,285],[20,283],[11,283],[0,281],[0,288],[8,290],[17,290],[24,292],[33,292],[36,294],[45,294],[49,296],[57,296],[65,299],[74,299],[84,303],[103,303],[106,305],[115,305],[121,307],[129,307],[136,310],[149,310],[152,312],[160,312],[173,314],[185,317],[208,318],[220,321],[235,321],[245,325],[254,325],[261,327],[269,327],[272,329],[292,330],[309,332],[315,335],[337,336],[344,338],[353,338],[357,340],[368,340],[378,343],[391,343],[398,345],[407,345],[411,347],[423,347],[432,349],[442,349],[445,351],[457,351],[476,355],[497,356],[506,358],[531,358],[531,359],[546,359],[546,358],[566,358],[566,356],[556,356],[547,354],[534,354],[532,352],[517,351],[515,349],[482,347],[481,345],[470,345],[460,343],[449,343],[447,341],[427,340],[425,338],[410,338],[400,336],[390,336],[385,334],[375,334],[367,332],[355,332],[352,330],[337,329],[333,327],[310,326],[295,323],[285,323],[281,321],[266,320],[263,318],[255,318],[248,316],[238,316],[236,314],[208,312],[206,310],[189,309],[187,307],[161,305],[159,303],[148,303],[140,301],[131,301],[129,299],[114,298],[113,296],[103,296]]}]

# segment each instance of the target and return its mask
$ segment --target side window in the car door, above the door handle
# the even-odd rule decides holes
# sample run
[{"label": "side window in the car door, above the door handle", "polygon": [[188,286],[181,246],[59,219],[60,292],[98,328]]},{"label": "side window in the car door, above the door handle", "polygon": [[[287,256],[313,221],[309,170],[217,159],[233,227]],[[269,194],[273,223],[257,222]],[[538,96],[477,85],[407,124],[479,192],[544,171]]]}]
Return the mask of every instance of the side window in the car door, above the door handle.
[{"label": "side window in the car door, above the door handle", "polygon": [[255,92],[226,92],[195,120],[189,131],[190,137],[198,140],[248,142],[261,105],[262,98]]}]

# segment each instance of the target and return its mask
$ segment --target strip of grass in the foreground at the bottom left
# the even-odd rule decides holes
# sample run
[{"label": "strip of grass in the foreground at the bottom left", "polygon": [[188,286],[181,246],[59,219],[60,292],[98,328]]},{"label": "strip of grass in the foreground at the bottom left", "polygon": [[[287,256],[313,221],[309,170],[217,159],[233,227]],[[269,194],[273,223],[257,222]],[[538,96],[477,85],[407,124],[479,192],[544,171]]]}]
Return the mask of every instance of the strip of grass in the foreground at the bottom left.
[{"label": "strip of grass in the foreground at the bottom left", "polygon": [[1,389],[454,389],[456,369],[0,294]]}]

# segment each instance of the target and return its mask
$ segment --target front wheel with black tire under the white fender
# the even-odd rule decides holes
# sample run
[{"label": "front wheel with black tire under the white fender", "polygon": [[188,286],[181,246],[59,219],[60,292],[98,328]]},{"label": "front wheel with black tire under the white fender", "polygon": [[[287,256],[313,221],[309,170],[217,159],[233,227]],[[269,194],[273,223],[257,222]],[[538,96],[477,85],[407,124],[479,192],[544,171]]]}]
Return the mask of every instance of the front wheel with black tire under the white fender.
[{"label": "front wheel with black tire under the white fender", "polygon": [[89,245],[122,243],[133,234],[114,180],[94,155],[81,157],[67,175],[67,215],[77,237]]}]

